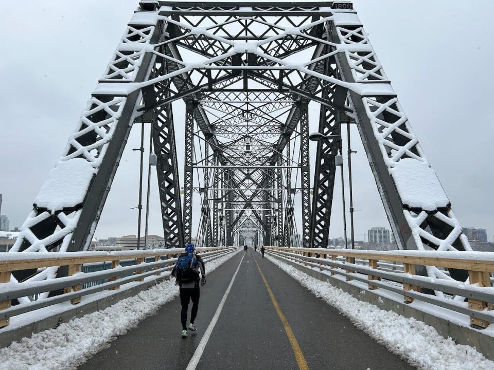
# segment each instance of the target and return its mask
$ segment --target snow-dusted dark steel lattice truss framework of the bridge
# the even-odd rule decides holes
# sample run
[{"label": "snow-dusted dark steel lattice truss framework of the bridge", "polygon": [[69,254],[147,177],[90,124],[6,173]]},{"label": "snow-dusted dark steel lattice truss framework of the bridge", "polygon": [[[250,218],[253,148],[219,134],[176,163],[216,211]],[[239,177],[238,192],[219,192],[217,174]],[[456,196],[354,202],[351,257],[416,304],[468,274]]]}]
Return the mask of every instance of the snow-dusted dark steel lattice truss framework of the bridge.
[{"label": "snow-dusted dark steel lattice truss framework of the bridge", "polygon": [[[185,122],[173,120],[178,99]],[[142,1],[12,251],[87,250],[136,119],[152,123],[169,246],[191,239],[198,192],[203,244],[231,245],[242,231],[269,245],[326,247],[341,140],[320,141],[310,160],[310,101],[324,134],[357,123],[400,249],[470,250],[351,3]],[[186,131],[183,201],[177,124]]]}]

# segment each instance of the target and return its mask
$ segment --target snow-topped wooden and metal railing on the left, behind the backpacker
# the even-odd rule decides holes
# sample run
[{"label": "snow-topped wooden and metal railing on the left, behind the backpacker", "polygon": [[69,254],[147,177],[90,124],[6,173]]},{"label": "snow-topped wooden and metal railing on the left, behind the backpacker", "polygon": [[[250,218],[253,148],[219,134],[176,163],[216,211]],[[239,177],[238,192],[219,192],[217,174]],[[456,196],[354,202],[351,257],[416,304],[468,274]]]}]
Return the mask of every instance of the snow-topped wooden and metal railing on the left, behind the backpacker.
[{"label": "snow-topped wooden and metal railing on the left, behind the backpacker", "polygon": [[[204,261],[224,256],[239,247],[197,248]],[[154,249],[123,252],[48,252],[48,253],[1,253],[0,254],[0,328],[9,325],[10,318],[36,309],[70,301],[81,302],[84,295],[103,290],[119,289],[121,285],[134,281],[144,282],[147,276],[160,275],[173,268],[177,261],[173,255],[183,253],[184,249]],[[120,266],[122,260],[134,260],[130,266]],[[81,272],[83,264],[111,262],[111,268],[101,271]],[[39,269],[51,266],[67,266],[68,276],[64,278],[36,281],[10,282],[13,271]],[[128,275],[122,277],[122,275]],[[101,281],[104,283],[85,289],[85,283]],[[20,303],[12,306],[13,300],[34,296],[43,292],[60,292],[41,300]]]}]

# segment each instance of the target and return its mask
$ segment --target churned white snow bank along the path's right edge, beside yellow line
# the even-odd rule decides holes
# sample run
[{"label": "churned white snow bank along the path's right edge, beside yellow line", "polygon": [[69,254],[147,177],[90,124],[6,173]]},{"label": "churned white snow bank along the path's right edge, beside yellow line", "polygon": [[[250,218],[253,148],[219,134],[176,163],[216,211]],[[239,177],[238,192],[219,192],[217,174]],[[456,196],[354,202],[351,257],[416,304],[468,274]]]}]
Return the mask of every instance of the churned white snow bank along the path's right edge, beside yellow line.
[{"label": "churned white snow bank along the path's right edge, beside yellow line", "polygon": [[[378,343],[419,369],[464,370],[466,367],[476,370],[494,369],[494,361],[486,359],[473,347],[456,344],[451,338],[443,338],[430,325],[359,301],[343,290],[312,278],[268,254],[267,258],[316,297],[338,309],[342,315]],[[350,348],[348,350],[351,351]],[[362,365],[365,365],[365,359],[362,359],[362,362]]]}]

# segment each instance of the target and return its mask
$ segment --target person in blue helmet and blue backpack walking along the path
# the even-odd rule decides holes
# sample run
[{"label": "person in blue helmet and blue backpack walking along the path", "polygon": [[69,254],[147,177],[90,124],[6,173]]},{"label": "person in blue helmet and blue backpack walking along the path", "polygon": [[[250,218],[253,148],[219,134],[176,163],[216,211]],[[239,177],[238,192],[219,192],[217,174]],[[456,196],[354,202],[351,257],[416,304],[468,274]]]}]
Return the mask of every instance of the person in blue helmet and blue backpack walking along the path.
[{"label": "person in blue helmet and blue backpack walking along the path", "polygon": [[[201,273],[201,277],[199,275]],[[177,280],[175,285],[180,286],[180,304],[182,305],[182,311],[180,312],[180,321],[182,322],[182,338],[187,337],[187,312],[189,308],[189,302],[192,300],[192,311],[190,312],[190,324],[188,329],[196,331],[196,325],[194,321],[197,317],[197,311],[199,309],[199,283],[201,286],[206,284],[204,262],[200,255],[195,253],[193,244],[188,243],[185,246],[185,253],[182,253],[171,275],[175,276]]]}]

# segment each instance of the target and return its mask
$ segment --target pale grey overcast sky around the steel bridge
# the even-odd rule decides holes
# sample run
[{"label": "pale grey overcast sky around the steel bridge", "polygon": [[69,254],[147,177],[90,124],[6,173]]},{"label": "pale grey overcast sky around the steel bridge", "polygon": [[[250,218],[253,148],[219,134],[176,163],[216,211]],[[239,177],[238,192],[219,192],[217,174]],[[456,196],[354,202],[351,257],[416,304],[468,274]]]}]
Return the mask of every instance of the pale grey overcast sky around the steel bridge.
[{"label": "pale grey overcast sky around the steel bridge", "polygon": [[[356,0],[387,76],[462,226],[494,233],[493,105],[490,61],[494,2]],[[136,8],[136,0],[1,2],[0,193],[2,214],[21,226]],[[5,36],[6,35],[6,36]],[[184,105],[174,103],[183,166]],[[311,104],[310,131],[317,127]],[[136,233],[139,130],[131,133],[96,230],[98,238]],[[352,133],[356,239],[387,226],[357,132]],[[315,144],[311,144],[311,162]],[[154,174],[153,174],[154,175]],[[339,178],[337,176],[337,178]],[[163,234],[155,175],[150,233]],[[312,180],[311,180],[312,181]],[[181,181],[182,183],[182,181]],[[330,236],[342,235],[336,184]],[[197,219],[198,217],[196,217]]]}]

